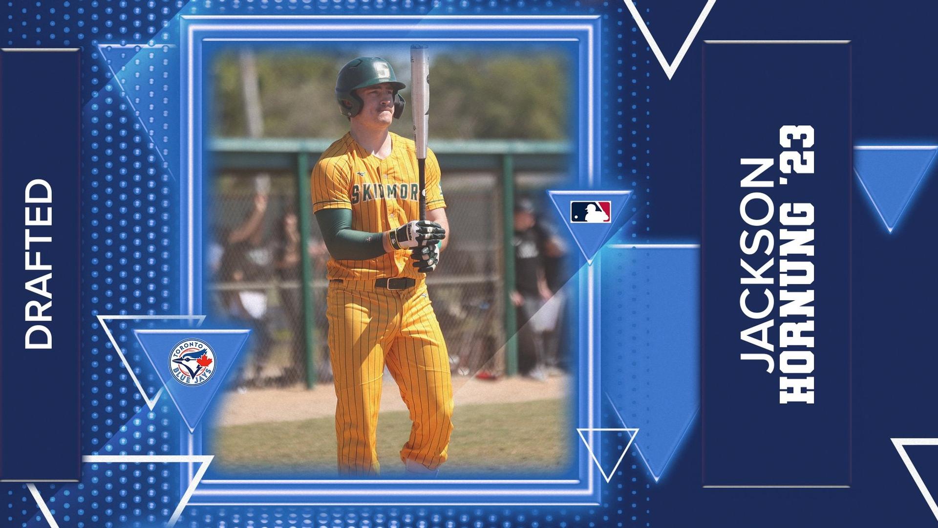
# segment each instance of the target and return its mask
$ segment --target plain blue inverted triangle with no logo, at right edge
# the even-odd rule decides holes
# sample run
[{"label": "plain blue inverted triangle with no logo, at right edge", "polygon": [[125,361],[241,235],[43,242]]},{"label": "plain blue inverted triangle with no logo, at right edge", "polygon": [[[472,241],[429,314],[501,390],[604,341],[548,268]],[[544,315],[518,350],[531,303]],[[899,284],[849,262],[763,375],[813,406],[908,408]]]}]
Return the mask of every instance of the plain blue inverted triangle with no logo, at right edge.
[{"label": "plain blue inverted triangle with no logo, at right edge", "polygon": [[855,147],[854,172],[891,233],[928,174],[938,147]]}]

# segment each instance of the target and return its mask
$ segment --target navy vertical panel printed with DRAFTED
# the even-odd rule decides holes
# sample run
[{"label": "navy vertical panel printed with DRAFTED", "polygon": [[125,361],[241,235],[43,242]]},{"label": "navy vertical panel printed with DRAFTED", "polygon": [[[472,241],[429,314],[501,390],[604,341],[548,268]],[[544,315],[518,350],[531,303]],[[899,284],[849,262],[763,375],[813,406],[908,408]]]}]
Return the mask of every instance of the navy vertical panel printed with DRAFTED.
[{"label": "navy vertical panel printed with DRAFTED", "polygon": [[77,50],[0,52],[4,480],[81,476],[80,65]]}]

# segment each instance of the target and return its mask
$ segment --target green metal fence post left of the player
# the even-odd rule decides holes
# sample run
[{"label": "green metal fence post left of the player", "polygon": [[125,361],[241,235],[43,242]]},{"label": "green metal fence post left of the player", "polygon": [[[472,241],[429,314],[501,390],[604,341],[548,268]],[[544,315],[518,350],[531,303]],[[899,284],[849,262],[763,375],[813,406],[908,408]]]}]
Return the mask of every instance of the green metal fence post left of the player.
[{"label": "green metal fence post left of the player", "polygon": [[299,236],[302,258],[303,289],[303,334],[306,342],[306,386],[316,385],[316,329],[312,317],[312,262],[310,259],[310,222],[312,221],[312,198],[310,197],[310,153],[299,152],[296,158],[296,178],[299,180]]}]

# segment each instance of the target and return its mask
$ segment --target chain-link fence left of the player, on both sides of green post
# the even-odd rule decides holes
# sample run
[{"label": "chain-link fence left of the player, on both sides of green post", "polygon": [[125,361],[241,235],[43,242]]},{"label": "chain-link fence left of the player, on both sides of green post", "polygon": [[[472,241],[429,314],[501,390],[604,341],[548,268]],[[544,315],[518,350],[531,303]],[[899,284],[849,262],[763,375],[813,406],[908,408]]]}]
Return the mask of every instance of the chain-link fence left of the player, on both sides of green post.
[{"label": "chain-link fence left of the player, on both sides of green post", "polygon": [[[325,273],[318,229],[303,243],[293,173],[225,173],[214,181],[209,286],[216,314],[252,330],[239,386],[291,385],[307,379],[302,252]],[[313,225],[314,226],[314,225]],[[313,295],[325,287],[313,285]],[[318,287],[317,287],[318,286]],[[315,299],[315,297],[314,297]],[[325,298],[312,303],[325,305]],[[325,335],[325,309],[313,310]],[[319,314],[317,312],[322,312]],[[313,344],[315,378],[330,380],[323,346]]]}]

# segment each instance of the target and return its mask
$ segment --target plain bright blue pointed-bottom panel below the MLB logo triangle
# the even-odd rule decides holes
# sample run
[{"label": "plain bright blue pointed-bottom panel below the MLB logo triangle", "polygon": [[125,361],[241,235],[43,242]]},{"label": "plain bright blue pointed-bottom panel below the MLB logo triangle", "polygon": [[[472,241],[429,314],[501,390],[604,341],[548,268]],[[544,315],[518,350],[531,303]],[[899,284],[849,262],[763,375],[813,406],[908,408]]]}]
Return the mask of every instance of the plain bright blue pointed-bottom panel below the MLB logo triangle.
[{"label": "plain bright blue pointed-bottom panel below the MLB logo triangle", "polygon": [[[700,248],[602,250],[602,388],[658,481],[700,407]],[[613,427],[613,426],[610,426]]]}]

